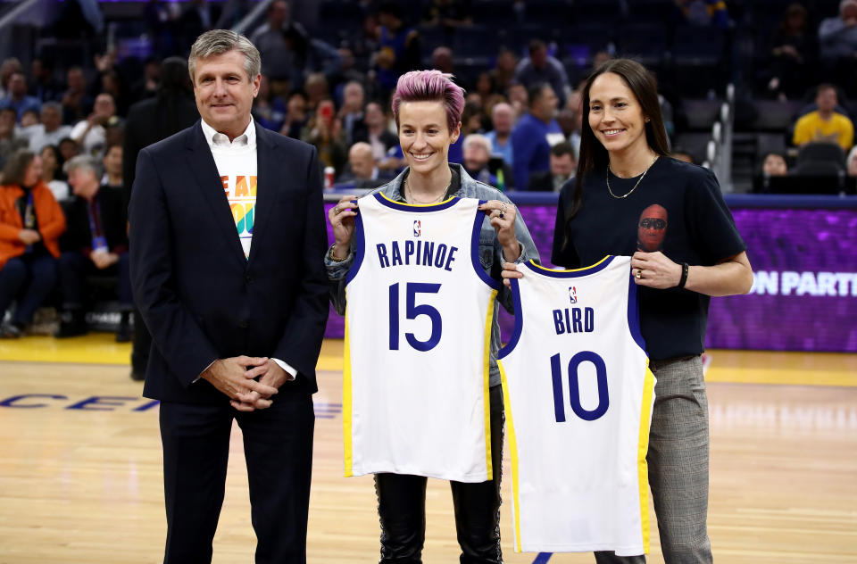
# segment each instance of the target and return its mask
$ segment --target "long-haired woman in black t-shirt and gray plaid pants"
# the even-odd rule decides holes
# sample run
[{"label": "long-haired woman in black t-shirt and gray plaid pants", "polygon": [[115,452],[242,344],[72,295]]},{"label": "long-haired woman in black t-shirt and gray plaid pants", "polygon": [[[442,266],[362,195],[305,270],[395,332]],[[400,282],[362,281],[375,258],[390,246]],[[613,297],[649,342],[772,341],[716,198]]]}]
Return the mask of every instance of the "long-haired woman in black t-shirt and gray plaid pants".
[{"label": "long-haired woman in black t-shirt and gray plaid pants", "polygon": [[[551,261],[573,269],[632,255],[640,328],[657,377],[646,456],[664,560],[711,562],[708,402],[701,353],[711,295],[745,294],[753,271],[717,179],[668,155],[645,67],[605,62],[583,90],[575,180],[562,188]],[[520,278],[510,267],[504,278]],[[595,552],[603,562],[644,556]]]}]

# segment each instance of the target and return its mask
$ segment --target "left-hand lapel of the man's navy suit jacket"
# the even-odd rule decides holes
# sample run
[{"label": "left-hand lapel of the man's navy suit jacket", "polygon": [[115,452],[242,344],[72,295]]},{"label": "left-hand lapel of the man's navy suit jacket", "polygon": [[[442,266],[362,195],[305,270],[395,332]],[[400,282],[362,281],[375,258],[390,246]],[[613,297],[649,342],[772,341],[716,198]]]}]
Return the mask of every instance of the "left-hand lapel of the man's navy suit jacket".
[{"label": "left-hand lapel of the man's navy suit jacket", "polygon": [[196,185],[202,192],[205,203],[212,210],[212,218],[217,230],[228,239],[228,245],[231,248],[230,254],[239,259],[243,267],[246,262],[244,248],[238,238],[235,220],[229,208],[229,199],[223,190],[223,183],[220,181],[217,172],[217,164],[214,162],[212,149],[205,141],[203,128],[199,121],[189,133],[187,150],[190,158],[188,160],[190,168],[196,176]]}]

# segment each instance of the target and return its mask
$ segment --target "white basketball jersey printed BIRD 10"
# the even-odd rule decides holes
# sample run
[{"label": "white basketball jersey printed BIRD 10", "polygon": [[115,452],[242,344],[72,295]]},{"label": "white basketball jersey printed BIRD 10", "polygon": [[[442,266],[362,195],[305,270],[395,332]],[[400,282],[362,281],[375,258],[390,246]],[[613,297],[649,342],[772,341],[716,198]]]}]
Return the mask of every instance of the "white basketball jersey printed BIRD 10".
[{"label": "white basketball jersey printed BIRD 10", "polygon": [[520,264],[499,353],[516,552],[648,553],[654,402],[630,258]]}]

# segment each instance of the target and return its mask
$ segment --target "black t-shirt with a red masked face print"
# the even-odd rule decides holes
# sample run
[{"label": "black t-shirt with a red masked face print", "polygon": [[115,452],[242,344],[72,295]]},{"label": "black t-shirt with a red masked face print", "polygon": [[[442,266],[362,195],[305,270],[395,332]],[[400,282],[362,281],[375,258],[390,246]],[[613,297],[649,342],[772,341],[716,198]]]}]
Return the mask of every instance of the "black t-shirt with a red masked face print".
[{"label": "black t-shirt with a red masked face print", "polygon": [[[610,177],[613,194],[627,194],[636,178]],[[583,205],[569,219],[574,183],[562,188],[553,233],[553,264],[580,268],[606,254],[630,256],[637,248],[670,260],[711,266],[746,250],[717,178],[710,170],[660,157],[626,198],[607,190],[606,171],[587,175]],[[689,290],[638,286],[640,329],[653,360],[704,350],[710,297]]]}]

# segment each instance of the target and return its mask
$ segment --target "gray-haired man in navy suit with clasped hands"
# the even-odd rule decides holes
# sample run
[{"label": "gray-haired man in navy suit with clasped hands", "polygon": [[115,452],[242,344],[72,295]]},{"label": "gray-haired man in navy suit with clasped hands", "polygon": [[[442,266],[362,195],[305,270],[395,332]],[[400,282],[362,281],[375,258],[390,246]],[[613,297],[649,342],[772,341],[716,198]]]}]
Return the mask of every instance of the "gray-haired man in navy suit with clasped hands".
[{"label": "gray-haired man in navy suit with clasped hands", "polygon": [[188,70],[202,120],[137,158],[131,278],[154,340],[167,563],[212,560],[233,419],[256,562],[306,560],[327,235],[315,149],[251,118],[260,67],[246,37],[201,35]]}]

